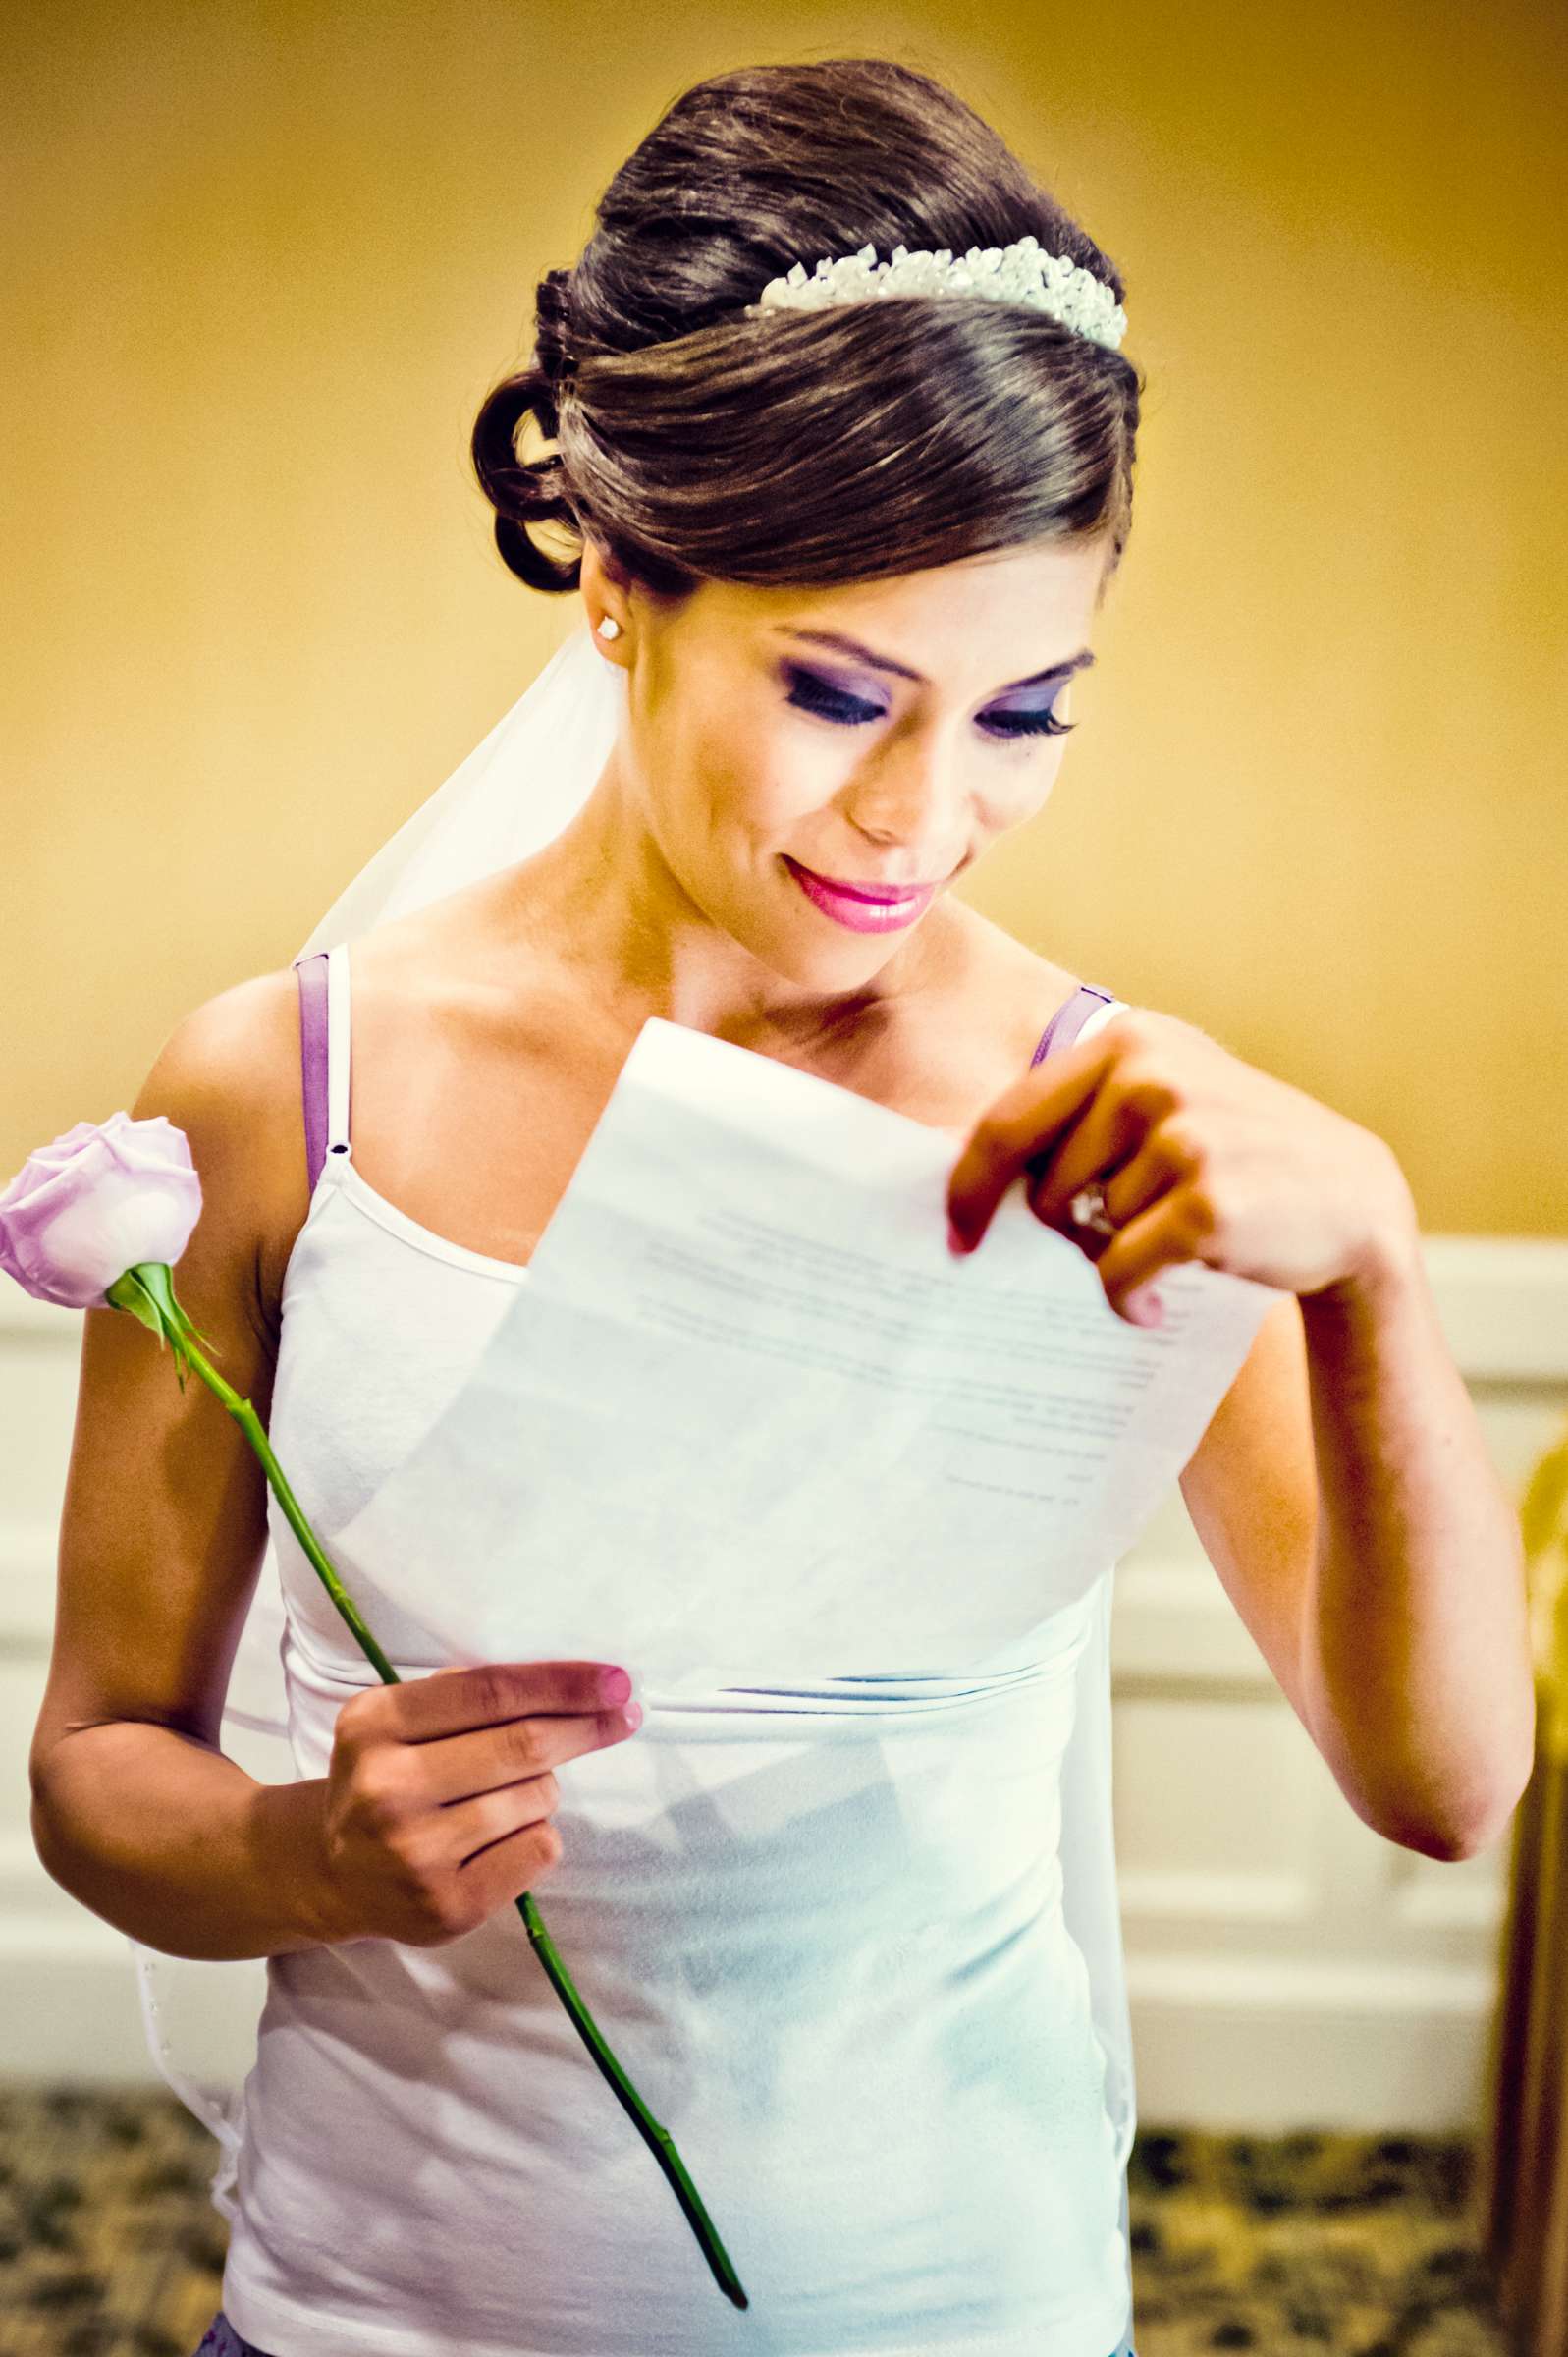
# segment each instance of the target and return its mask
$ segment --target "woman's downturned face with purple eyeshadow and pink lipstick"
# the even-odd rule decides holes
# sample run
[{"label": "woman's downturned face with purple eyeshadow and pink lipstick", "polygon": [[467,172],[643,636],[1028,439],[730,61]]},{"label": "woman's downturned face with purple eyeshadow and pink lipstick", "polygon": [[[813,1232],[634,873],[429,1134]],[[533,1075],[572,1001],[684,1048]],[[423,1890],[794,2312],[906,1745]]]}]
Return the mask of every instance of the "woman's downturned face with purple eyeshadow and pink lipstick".
[{"label": "woman's downturned face with purple eyeshadow and pink lipstick", "polygon": [[[913,955],[953,879],[1056,780],[1103,563],[1099,540],[844,589],[705,582],[660,608],[589,542],[589,622],[622,625],[597,643],[627,672],[618,844],[634,813],[644,917],[707,919],[813,990]],[[835,882],[924,891],[877,907]]]}]

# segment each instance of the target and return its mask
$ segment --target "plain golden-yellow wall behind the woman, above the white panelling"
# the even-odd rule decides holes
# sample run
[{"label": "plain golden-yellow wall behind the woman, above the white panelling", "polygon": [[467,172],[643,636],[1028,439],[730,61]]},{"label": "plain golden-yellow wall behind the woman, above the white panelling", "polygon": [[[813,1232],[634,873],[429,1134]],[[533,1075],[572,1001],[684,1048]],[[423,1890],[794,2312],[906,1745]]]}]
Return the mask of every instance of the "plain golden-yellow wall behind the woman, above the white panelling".
[{"label": "plain golden-yellow wall behind the woman, above the white panelling", "polygon": [[573,625],[500,566],[465,450],[622,156],[705,73],[882,52],[1118,257],[1151,375],[1085,726],[967,896],[1375,1127],[1429,1230],[1563,1233],[1554,19],[14,16],[0,1183],[285,964]]}]

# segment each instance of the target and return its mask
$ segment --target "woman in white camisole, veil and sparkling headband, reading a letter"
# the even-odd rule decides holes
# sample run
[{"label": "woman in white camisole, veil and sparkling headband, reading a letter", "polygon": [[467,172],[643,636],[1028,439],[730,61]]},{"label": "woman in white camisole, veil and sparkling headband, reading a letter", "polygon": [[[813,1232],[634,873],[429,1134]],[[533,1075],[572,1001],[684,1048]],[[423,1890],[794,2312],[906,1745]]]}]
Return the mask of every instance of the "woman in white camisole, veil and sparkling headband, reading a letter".
[{"label": "woman in white camisole, veil and sparkling headband, reading a letter", "polygon": [[[1290,1296],[1184,1494],[1344,1789],[1460,1855],[1528,1763],[1485,1749],[1523,1723],[1507,1598],[1448,1648],[1464,1692],[1412,1711],[1448,1780],[1398,1784],[1358,1732],[1375,1648],[1302,1645],[1309,1574],[1351,1572],[1313,1553],[1304,1313],[1342,1374],[1417,1332],[1398,1164],[960,898],[1042,813],[1094,662],[1144,389],[1125,325],[1115,264],[931,78],[830,59],[686,90],[474,427],[500,556],[585,627],[292,966],[174,1030],[137,1115],[191,1143],[182,1299],[328,1551],[460,1393],[651,1016],[964,1134],[969,1242],[1019,1171],[1059,1223],[1099,1183],[1120,1315],[1181,1256]],[[521,455],[528,422],[554,448]],[[1427,1329],[1403,1348],[1403,1506],[1500,1534],[1457,1374]],[[1386,1499],[1391,1549],[1386,1431],[1368,1409],[1320,1445],[1332,1494]],[[938,1706],[877,1692],[884,1662],[856,1697],[651,1695],[639,1723],[618,1664],[531,1657],[526,1598],[505,1657],[431,1673],[462,1494],[448,1541],[340,1565],[408,1605],[384,1643],[413,1676],[365,1685],[231,1419],[87,1313],[35,1824],[130,1933],[158,2067],[224,2147],[203,2345],[1125,2357],[1113,1565],[1040,1622],[1028,1676]],[[655,1544],[627,1565],[677,1579]],[[540,1881],[745,2319],[519,1937]]]}]

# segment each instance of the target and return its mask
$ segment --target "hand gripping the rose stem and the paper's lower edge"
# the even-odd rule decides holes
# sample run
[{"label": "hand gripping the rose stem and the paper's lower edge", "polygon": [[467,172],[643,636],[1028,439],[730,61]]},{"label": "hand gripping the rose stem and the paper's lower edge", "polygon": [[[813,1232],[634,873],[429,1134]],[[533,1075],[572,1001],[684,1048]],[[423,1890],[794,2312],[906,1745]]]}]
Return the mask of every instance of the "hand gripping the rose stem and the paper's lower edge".
[{"label": "hand gripping the rose stem and the paper's lower edge", "polygon": [[335,1940],[446,1947],[561,1860],[552,1768],[632,1735],[606,1662],[481,1662],[337,1711],[323,1796]]}]

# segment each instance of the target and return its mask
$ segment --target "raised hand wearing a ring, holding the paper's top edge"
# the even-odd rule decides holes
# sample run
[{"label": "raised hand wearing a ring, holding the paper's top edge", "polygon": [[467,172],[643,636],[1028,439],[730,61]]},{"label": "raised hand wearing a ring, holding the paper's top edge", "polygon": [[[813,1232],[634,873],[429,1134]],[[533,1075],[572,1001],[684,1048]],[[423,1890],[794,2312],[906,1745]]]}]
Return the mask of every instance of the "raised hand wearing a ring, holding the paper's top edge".
[{"label": "raised hand wearing a ring, holding the paper's top edge", "polygon": [[[1132,1325],[1158,1322],[1141,1315],[1148,1289],[1181,1261],[1320,1294],[1368,1282],[1417,1240],[1410,1186],[1375,1131],[1148,1006],[986,1108],[948,1178],[964,1249],[1019,1171],[1035,1219],[1092,1254]],[[1089,1247],[1068,1207],[1096,1181],[1115,1233]]]}]

